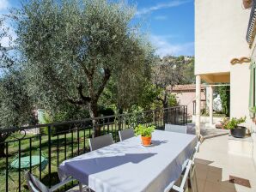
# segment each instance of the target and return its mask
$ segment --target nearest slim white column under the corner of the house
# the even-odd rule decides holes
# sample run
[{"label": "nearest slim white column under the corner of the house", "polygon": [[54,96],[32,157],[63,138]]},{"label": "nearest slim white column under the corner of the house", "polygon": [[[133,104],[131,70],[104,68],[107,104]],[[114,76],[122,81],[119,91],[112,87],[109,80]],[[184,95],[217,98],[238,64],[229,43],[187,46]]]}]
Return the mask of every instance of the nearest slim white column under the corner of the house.
[{"label": "nearest slim white column under the corner of the house", "polygon": [[201,77],[196,76],[196,135],[200,136],[200,116],[201,116]]}]

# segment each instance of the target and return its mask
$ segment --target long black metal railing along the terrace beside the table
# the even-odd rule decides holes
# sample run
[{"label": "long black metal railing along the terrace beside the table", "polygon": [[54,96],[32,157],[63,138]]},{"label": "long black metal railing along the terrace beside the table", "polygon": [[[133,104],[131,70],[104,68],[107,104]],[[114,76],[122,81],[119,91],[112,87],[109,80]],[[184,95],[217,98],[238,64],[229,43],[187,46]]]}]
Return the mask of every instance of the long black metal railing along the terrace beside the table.
[{"label": "long black metal railing along the terrace beside the table", "polygon": [[[164,123],[186,122],[187,107],[177,106],[94,119],[0,129],[0,135],[12,133],[15,137],[20,137],[13,140],[9,137],[0,143],[5,148],[5,157],[0,158],[0,191],[26,191],[25,171],[33,172],[48,187],[58,183],[58,165],[65,159],[88,153],[88,138],[93,136],[112,133],[113,140],[117,142],[119,130],[134,128],[139,123],[163,129]],[[38,134],[24,134],[32,129],[37,129],[34,132]],[[63,190],[75,184],[71,183]]]}]

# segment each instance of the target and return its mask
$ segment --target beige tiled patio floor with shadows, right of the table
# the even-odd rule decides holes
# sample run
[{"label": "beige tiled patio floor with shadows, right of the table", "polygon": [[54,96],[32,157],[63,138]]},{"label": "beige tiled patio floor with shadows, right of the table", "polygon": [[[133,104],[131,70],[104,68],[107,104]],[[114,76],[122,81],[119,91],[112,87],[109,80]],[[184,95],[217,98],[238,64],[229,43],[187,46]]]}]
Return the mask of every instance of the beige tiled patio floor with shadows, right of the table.
[{"label": "beige tiled patio floor with shadows, right of the table", "polygon": [[[255,192],[256,170],[253,159],[228,153],[228,135],[205,140],[196,159],[198,192]],[[232,183],[232,177],[240,177]],[[243,180],[244,179],[244,180]]]}]

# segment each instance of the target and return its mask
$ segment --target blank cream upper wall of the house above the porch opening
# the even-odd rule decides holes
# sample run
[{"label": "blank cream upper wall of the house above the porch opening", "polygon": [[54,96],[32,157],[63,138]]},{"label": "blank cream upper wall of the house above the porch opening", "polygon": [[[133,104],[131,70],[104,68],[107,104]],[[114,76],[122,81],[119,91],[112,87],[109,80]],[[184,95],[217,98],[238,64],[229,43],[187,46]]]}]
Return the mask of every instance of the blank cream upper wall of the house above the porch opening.
[{"label": "blank cream upper wall of the house above the porch opening", "polygon": [[195,0],[195,75],[230,71],[230,60],[248,57],[250,10],[241,0]]}]

